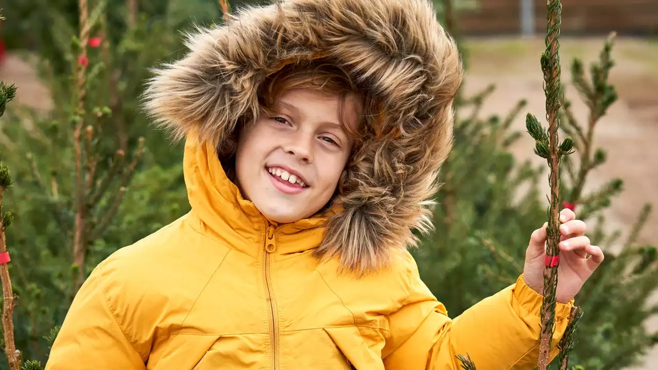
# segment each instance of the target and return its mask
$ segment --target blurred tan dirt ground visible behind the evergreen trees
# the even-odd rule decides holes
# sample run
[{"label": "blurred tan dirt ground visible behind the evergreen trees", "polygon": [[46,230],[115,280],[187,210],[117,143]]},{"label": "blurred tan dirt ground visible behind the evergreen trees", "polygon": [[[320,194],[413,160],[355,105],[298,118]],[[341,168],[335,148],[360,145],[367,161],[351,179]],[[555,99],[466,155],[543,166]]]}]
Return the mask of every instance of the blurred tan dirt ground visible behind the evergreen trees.
[{"label": "blurred tan dirt ground visible behind the evergreen trees", "polygon": [[[505,115],[520,99],[528,105],[513,128],[524,132],[525,113],[533,113],[540,120],[545,115],[543,78],[539,57],[544,40],[536,39],[477,39],[467,40],[468,72],[465,92],[479,92],[489,84],[496,90],[486,101],[483,114]],[[583,59],[586,66],[597,58],[603,38],[561,41],[563,82],[569,84],[569,65],[573,57]],[[616,66],[611,71],[611,82],[617,88],[619,100],[601,119],[595,130],[595,145],[608,153],[607,163],[592,172],[586,192],[598,188],[613,177],[624,180],[624,192],[613,201],[606,213],[609,225],[624,234],[636,220],[646,202],[658,208],[658,43],[656,41],[619,39],[613,48]],[[16,83],[22,93],[17,100],[28,105],[49,106],[47,90],[36,82],[34,72],[18,57],[9,55],[0,65],[0,79]],[[588,110],[572,86],[568,97],[574,103],[578,119],[587,119]],[[528,134],[512,148],[520,160],[543,160],[532,153],[534,143]],[[545,162],[544,162],[545,163]],[[545,189],[547,191],[547,189]],[[649,219],[640,243],[658,245],[658,209]],[[614,250],[615,246],[601,246]],[[658,330],[658,318],[649,322]],[[658,347],[647,356],[644,367],[658,367]]]}]

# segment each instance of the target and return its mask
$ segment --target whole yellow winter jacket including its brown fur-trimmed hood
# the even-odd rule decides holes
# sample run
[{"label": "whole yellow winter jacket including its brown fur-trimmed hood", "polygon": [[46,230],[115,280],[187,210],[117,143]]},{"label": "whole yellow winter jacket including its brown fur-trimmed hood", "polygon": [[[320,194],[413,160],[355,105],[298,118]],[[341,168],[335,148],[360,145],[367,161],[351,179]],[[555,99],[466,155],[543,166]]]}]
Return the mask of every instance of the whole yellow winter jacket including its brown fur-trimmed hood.
[{"label": "whole yellow winter jacket including its brown fur-trimmed hood", "polygon": [[[191,211],[94,269],[47,370],[456,370],[459,354],[478,370],[534,367],[542,297],[522,277],[450,319],[406,249],[427,226],[462,75],[427,1],[288,0],[188,46],[149,81],[146,106],[186,137]],[[258,108],[265,76],[319,57],[353,74],[382,115],[347,169],[359,186],[326,213],[272,225],[216,148]],[[339,273],[355,266],[362,277]],[[551,357],[571,306],[557,304]]]}]

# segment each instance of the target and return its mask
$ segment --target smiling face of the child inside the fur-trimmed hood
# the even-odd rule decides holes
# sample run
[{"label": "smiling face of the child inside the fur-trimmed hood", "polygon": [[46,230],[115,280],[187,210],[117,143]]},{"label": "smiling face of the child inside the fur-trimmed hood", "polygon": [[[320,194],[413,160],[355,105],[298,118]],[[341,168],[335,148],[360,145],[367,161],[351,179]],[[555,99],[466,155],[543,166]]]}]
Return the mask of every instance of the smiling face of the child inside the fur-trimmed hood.
[{"label": "smiling face of the child inside the fur-trimmed hood", "polygon": [[[268,219],[306,219],[332,198],[352,141],[340,124],[339,97],[290,90],[276,101],[274,115],[261,115],[240,134],[237,184],[245,199]],[[343,119],[357,122],[352,99]]]}]

